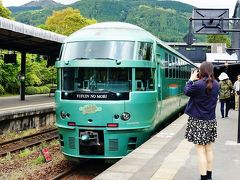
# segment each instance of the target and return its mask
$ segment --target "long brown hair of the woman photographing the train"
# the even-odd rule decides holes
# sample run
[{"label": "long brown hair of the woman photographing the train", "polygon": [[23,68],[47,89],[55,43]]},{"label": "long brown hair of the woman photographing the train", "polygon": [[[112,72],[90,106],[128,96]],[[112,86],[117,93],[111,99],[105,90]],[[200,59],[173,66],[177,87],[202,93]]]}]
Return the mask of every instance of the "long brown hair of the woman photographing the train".
[{"label": "long brown hair of the woman photographing the train", "polygon": [[207,61],[202,62],[200,65],[199,77],[200,79],[206,78],[206,93],[209,95],[212,91],[213,80],[215,79],[213,73],[213,64]]}]

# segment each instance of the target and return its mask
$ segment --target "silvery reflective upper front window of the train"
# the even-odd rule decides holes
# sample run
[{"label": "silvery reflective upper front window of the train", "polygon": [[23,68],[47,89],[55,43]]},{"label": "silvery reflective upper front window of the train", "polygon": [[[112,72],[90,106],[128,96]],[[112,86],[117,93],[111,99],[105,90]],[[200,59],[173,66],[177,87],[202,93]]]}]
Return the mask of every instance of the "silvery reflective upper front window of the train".
[{"label": "silvery reflective upper front window of the train", "polygon": [[82,41],[65,45],[62,60],[71,59],[133,59],[133,41]]}]

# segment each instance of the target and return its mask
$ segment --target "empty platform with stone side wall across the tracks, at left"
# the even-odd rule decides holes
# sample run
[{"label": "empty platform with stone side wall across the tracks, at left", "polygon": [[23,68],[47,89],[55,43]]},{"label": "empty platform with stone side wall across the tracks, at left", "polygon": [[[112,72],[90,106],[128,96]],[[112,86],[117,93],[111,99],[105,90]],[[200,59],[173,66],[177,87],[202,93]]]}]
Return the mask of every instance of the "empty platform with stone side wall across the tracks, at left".
[{"label": "empty platform with stone side wall across the tracks, at left", "polygon": [[55,122],[54,98],[48,94],[0,97],[0,135],[29,128],[44,128]]}]

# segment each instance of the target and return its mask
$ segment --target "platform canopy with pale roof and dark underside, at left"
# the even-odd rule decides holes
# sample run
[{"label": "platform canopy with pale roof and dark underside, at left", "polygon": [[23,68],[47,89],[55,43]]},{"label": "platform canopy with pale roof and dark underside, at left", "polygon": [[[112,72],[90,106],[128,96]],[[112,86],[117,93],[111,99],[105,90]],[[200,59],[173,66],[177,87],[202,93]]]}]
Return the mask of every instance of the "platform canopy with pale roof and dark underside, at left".
[{"label": "platform canopy with pale roof and dark underside, at left", "polygon": [[66,36],[0,17],[0,48],[58,57]]}]

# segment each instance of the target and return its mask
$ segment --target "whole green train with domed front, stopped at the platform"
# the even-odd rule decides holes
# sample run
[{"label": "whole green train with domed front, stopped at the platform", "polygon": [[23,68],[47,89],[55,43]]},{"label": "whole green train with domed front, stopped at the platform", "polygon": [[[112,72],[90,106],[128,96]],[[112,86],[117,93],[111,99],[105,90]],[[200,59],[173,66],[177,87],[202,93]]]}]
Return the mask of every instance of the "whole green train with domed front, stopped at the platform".
[{"label": "whole green train with domed front, stopped at the platform", "polygon": [[87,26],[66,38],[55,64],[56,126],[70,160],[122,158],[187,103],[196,66],[128,23]]}]

